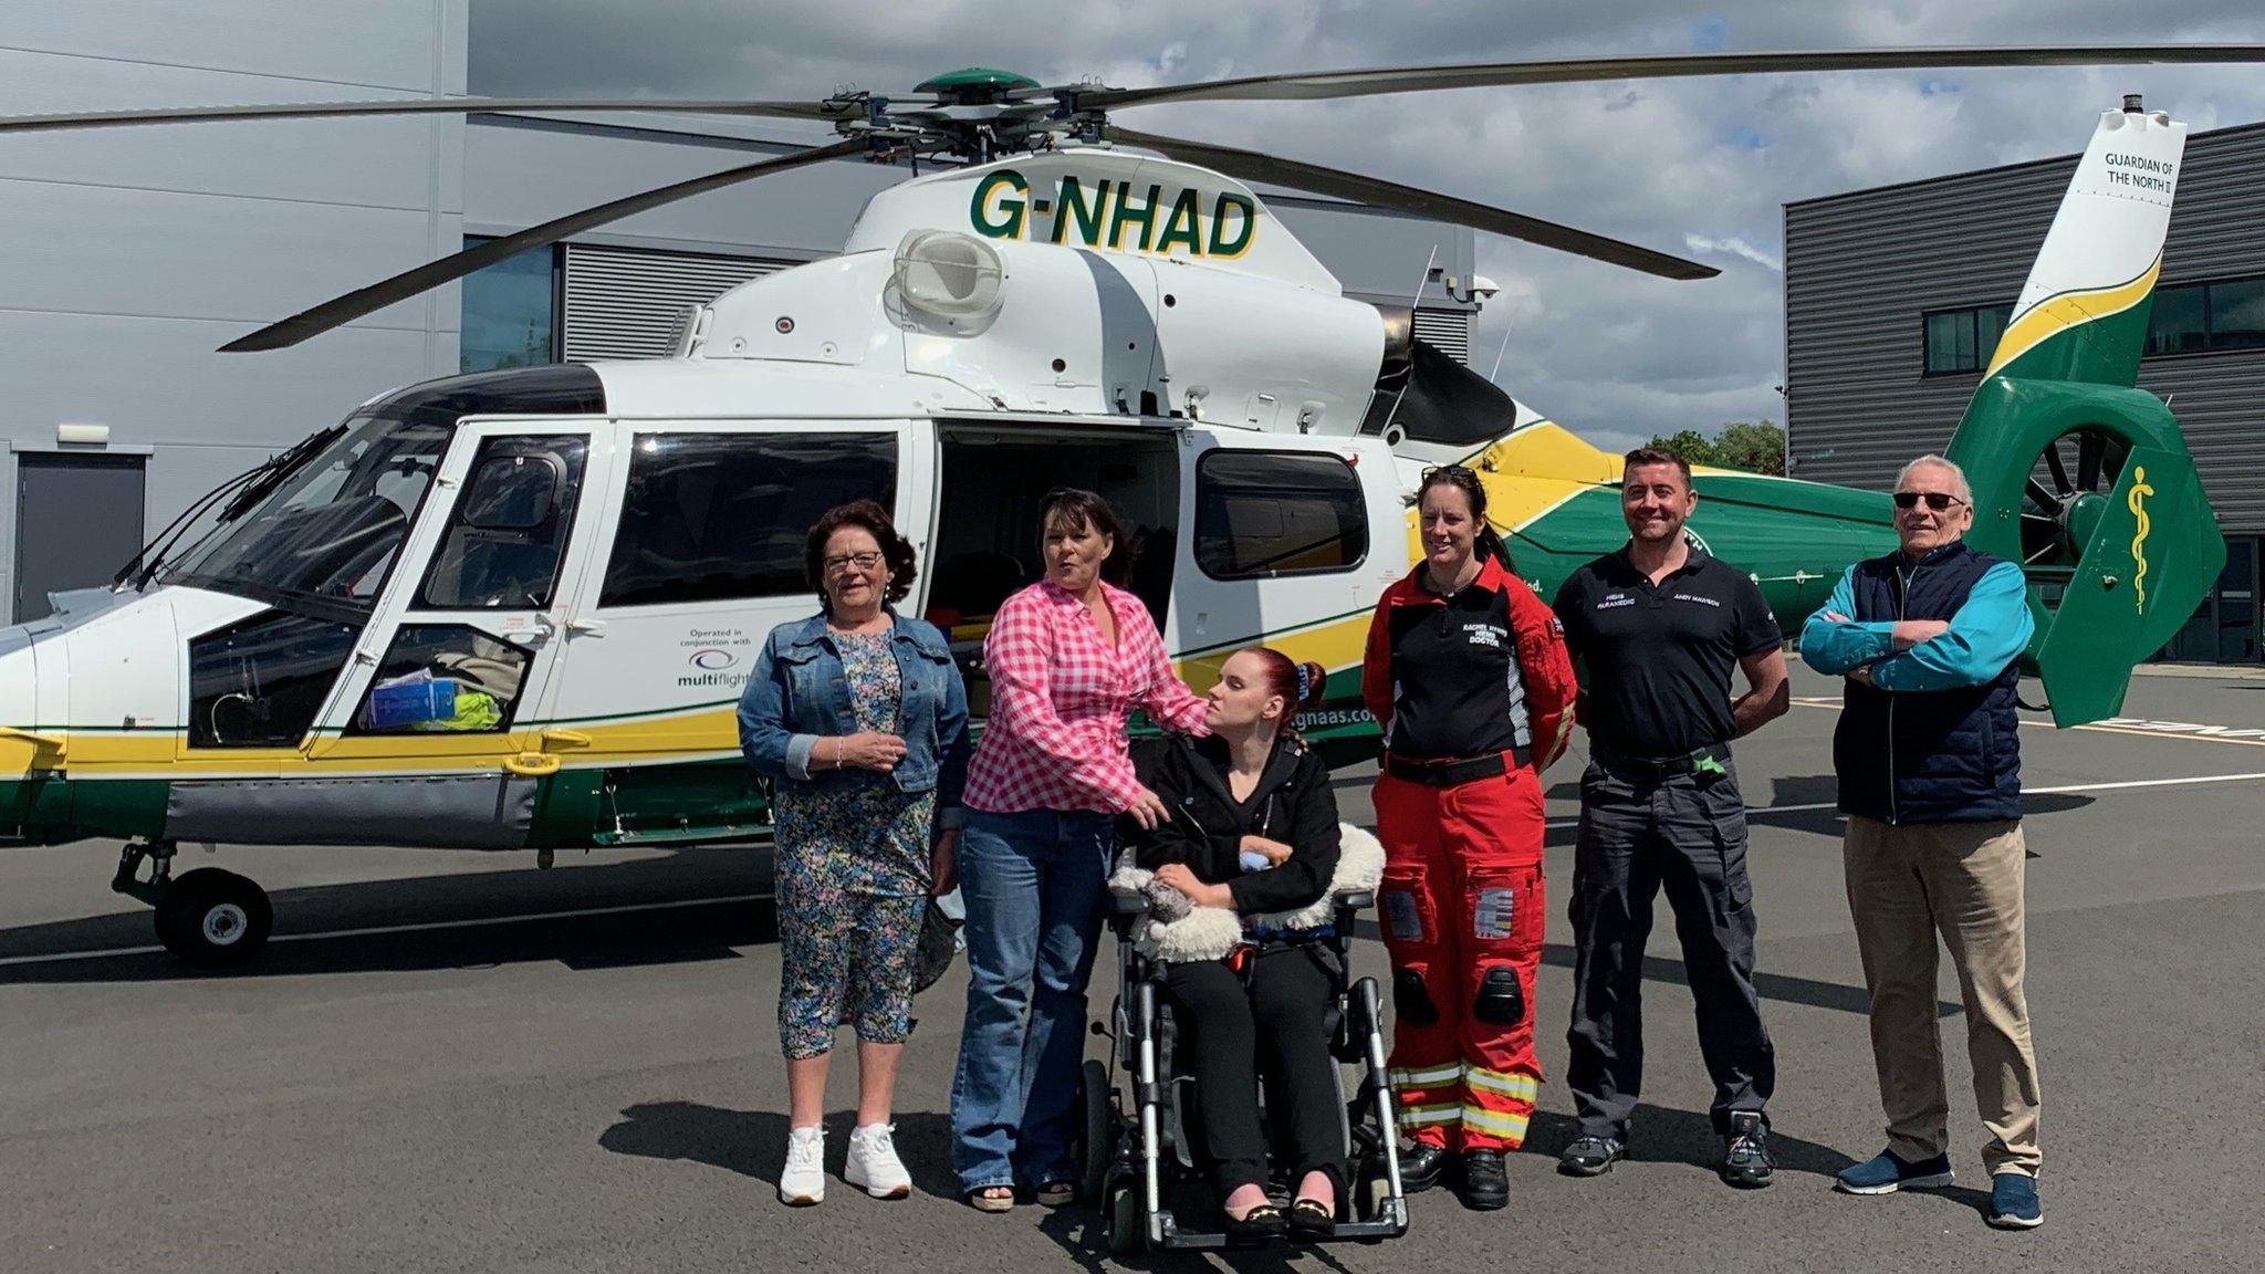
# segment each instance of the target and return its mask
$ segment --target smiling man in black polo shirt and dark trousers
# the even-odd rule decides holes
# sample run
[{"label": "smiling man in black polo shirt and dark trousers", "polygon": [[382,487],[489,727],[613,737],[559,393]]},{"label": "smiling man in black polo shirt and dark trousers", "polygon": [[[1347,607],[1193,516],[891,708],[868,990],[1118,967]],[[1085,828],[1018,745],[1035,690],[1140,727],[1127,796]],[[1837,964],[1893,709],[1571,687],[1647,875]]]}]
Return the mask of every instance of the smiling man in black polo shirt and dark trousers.
[{"label": "smiling man in black polo shirt and dark trousers", "polygon": [[[1644,1070],[1642,966],[1651,900],[1665,889],[1699,1009],[1699,1052],[1715,1079],[1721,1179],[1769,1186],[1776,1059],[1753,995],[1753,884],[1746,805],[1730,739],[1783,714],[1792,698],[1778,621],[1737,567],[1683,537],[1696,508],[1690,465],[1640,447],[1622,467],[1629,544],[1565,578],[1556,614],[1586,664],[1574,846],[1572,1065],[1581,1120],[1558,1170],[1597,1177],[1629,1140]],[[1746,694],[1730,703],[1730,669]]]}]

